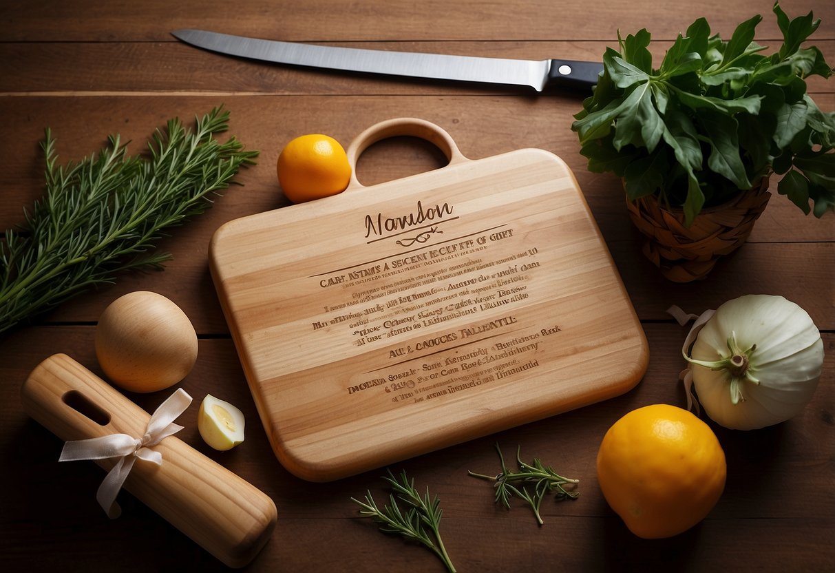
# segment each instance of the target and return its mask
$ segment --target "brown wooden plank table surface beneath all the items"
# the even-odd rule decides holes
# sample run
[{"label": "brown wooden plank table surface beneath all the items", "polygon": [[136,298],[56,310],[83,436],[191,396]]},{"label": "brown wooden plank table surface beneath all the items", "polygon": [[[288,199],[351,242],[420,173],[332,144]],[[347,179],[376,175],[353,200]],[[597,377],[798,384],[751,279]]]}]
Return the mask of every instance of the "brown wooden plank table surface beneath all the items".
[{"label": "brown wooden plank table surface beneath all the items", "polygon": [[[835,62],[835,4],[784,0],[791,16],[814,9],[823,23],[812,38]],[[250,570],[441,571],[428,551],[384,536],[357,515],[352,496],[372,489],[382,501],[383,469],[330,484],[308,483],[281,467],[258,422],[213,287],[207,247],[225,221],[287,205],[276,181],[276,158],[296,135],[326,133],[346,144],[383,119],[415,116],[447,129],[472,159],[541,148],[574,170],[625,282],[650,343],[650,365],[629,393],[553,418],[459,444],[392,466],[442,501],[443,537],[459,571],[499,570],[832,570],[835,566],[835,225],[802,215],[776,193],[748,243],[721,261],[706,281],[666,281],[640,254],[620,183],[585,168],[572,116],[581,96],[534,95],[524,89],[329,74],[227,58],[179,43],[178,28],[205,28],[289,41],[381,49],[542,59],[600,59],[617,30],[648,28],[663,53],[676,33],[709,18],[728,38],[736,23],[761,13],[757,41],[775,45],[771,0],[694,3],[671,0],[251,0],[78,2],[5,0],[0,4],[0,104],[3,138],[0,228],[23,222],[23,209],[43,191],[38,142],[50,127],[60,161],[98,151],[119,133],[139,151],[166,119],[190,120],[225,104],[230,133],[258,164],[204,216],[160,243],[174,255],[164,271],[119,276],[112,287],[83,294],[30,325],[0,337],[0,561],[3,570],[221,570],[223,565],[130,494],[124,514],[109,520],[95,502],[104,472],[92,462],[58,464],[62,442],[28,418],[19,392],[44,358],[65,352],[100,373],[94,352],[99,314],[137,290],[170,297],[200,338],[194,370],[180,383],[195,404],[179,434],[195,449],[275,500],[279,520]],[[822,109],[835,110],[835,81],[810,82]],[[444,165],[419,140],[391,139],[362,155],[366,185]],[[787,423],[753,432],[715,429],[728,463],[726,490],[701,525],[667,540],[639,540],[609,509],[595,476],[600,439],[624,413],[650,403],[683,406],[677,382],[686,328],[672,304],[689,312],[716,308],[747,293],[779,294],[804,307],[822,331],[827,356],[812,403]],[[168,395],[128,394],[147,410]],[[196,428],[205,393],[238,405],[246,441],[226,453],[210,450]],[[497,468],[493,444],[511,457],[519,445],[560,472],[581,479],[579,499],[544,504],[538,527],[523,506],[493,505],[493,492],[467,470]]]}]

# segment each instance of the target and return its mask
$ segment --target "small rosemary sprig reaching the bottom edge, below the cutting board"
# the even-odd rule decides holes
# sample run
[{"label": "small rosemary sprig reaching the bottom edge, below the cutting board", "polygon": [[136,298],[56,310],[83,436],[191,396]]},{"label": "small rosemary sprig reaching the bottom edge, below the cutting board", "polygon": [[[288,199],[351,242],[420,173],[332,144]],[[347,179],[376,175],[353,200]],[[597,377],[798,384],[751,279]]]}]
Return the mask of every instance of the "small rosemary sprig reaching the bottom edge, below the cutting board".
[{"label": "small rosemary sprig reaching the bottom edge, below the cutting board", "polygon": [[[441,502],[438,496],[430,498],[429,488],[426,489],[426,494],[421,496],[414,487],[414,479],[408,479],[405,471],[400,474],[399,479],[394,477],[391,469],[387,471],[388,475],[382,476],[382,479],[392,486],[388,505],[383,505],[380,509],[371,491],[368,491],[364,502],[351,498],[362,508],[359,511],[360,515],[370,517],[380,526],[383,533],[401,535],[407,540],[417,541],[428,547],[435,555],[438,555],[450,573],[455,573],[455,566],[449,559],[443,540],[441,540],[440,525],[443,510],[440,508]],[[397,505],[398,499],[408,506],[405,512]]]}]

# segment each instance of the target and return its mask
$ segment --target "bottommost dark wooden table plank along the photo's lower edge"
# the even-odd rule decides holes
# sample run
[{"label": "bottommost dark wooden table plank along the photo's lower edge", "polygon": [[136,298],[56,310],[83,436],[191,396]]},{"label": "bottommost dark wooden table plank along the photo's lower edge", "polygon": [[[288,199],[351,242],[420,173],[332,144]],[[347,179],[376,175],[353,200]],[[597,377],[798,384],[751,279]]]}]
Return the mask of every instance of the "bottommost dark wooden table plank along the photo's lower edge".
[{"label": "bottommost dark wooden table plank along the photo's lower edge", "polygon": [[[132,508],[133,509],[133,508]],[[134,513],[142,513],[136,508]],[[72,522],[66,517],[66,522]],[[498,524],[496,523],[498,521]],[[458,570],[501,571],[527,567],[554,567],[572,571],[641,571],[660,568],[694,571],[719,569],[728,563],[757,567],[766,573],[781,570],[829,570],[835,558],[828,544],[832,524],[825,519],[708,519],[695,529],[671,540],[652,543],[637,540],[614,517],[598,520],[545,518],[545,525],[524,517],[495,521],[458,518],[444,514],[442,534]],[[130,560],[120,560],[133,550],[135,536],[154,535],[154,547],[164,552],[166,565],[212,572],[228,570],[210,555],[195,549],[178,531],[154,520],[132,520],[112,525],[89,525],[78,520],[78,529],[67,530],[50,544],[50,551],[38,555],[38,565],[48,568],[73,566],[83,570],[106,568],[119,562],[119,570],[142,573],[159,566],[159,558],[140,552]],[[499,526],[497,526],[499,525]],[[23,529],[32,527],[22,524]],[[789,530],[790,533],[786,533]],[[744,533],[742,533],[744,532]],[[95,535],[106,548],[97,550],[88,537]],[[13,541],[29,541],[28,535],[12,534]],[[762,540],[770,540],[763,544]],[[322,545],[322,540],[331,540]],[[735,551],[723,550],[734,540]],[[9,544],[11,545],[11,543]],[[8,564],[25,567],[21,545],[10,546]],[[367,520],[286,519],[279,522],[276,538],[266,546],[247,571],[350,570],[373,573],[383,567],[391,571],[441,573],[441,562],[423,548],[390,535],[378,533]]]}]

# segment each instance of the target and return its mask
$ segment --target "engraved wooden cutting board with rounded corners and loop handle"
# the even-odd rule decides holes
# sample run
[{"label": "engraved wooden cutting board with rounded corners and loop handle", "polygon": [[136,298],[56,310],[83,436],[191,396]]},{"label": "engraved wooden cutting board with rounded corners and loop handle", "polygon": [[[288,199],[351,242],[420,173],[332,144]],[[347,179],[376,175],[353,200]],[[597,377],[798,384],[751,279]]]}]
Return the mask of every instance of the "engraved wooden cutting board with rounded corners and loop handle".
[{"label": "engraved wooden cutting board with rounded corners and loop handle", "polygon": [[230,221],[210,266],[276,456],[340,479],[611,398],[644,332],[574,175],[556,155],[468,160],[441,128],[392,135],[449,164]]}]

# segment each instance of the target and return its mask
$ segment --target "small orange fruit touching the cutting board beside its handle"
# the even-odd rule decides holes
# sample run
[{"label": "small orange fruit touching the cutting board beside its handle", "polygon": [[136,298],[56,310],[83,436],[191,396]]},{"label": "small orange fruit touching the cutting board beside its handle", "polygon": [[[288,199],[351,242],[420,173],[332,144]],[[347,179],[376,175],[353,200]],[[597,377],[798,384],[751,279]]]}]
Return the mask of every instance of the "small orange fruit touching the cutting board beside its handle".
[{"label": "small orange fruit touching the cutting board beside its handle", "polygon": [[342,145],[322,134],[292,139],[278,156],[278,182],[293,203],[342,193],[351,179],[351,164]]}]

